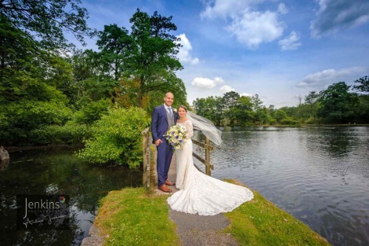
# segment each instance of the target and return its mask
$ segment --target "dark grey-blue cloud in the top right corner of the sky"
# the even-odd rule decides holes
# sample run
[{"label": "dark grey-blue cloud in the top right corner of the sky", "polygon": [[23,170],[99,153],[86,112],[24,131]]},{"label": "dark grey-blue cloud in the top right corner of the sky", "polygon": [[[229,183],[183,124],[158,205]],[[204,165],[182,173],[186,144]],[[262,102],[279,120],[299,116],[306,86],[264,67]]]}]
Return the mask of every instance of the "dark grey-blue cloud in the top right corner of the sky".
[{"label": "dark grey-blue cloud in the top right corner of the sky", "polygon": [[314,38],[369,21],[369,1],[318,0],[318,3],[317,17],[310,25]]}]

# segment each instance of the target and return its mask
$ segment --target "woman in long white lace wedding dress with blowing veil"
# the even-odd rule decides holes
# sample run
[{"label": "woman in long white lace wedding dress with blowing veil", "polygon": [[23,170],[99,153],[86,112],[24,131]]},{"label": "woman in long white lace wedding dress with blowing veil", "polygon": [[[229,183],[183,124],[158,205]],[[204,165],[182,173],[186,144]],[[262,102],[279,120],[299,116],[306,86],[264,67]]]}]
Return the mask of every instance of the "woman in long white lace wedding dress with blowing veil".
[{"label": "woman in long white lace wedding dress with blowing veil", "polygon": [[177,124],[187,130],[187,139],[182,149],[176,149],[177,179],[179,190],[167,199],[171,209],[189,214],[215,215],[230,212],[254,198],[248,188],[217,180],[193,166],[192,140],[193,127],[201,130],[206,137],[219,145],[221,132],[211,121],[202,116],[187,112],[185,106],[178,108]]}]

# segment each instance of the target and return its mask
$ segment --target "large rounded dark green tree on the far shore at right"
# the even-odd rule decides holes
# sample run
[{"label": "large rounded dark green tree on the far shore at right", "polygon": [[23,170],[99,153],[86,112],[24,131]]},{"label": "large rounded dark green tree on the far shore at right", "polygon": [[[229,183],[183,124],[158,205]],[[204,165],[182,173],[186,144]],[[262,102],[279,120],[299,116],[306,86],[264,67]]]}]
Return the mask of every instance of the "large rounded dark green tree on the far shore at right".
[{"label": "large rounded dark green tree on the far shore at right", "polygon": [[328,123],[347,123],[353,120],[357,95],[349,93],[345,82],[334,83],[320,92],[318,116]]}]

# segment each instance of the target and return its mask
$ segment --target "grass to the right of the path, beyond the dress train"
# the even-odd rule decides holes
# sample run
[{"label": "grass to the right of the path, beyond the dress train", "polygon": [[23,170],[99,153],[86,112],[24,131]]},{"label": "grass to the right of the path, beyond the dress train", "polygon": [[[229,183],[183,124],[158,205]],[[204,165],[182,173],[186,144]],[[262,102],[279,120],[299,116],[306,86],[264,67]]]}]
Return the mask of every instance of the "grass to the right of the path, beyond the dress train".
[{"label": "grass to the right of the path, beyond the dress train", "polygon": [[[235,180],[226,181],[243,185]],[[252,192],[252,201],[224,214],[231,221],[226,233],[232,234],[240,245],[329,245],[307,225]]]}]

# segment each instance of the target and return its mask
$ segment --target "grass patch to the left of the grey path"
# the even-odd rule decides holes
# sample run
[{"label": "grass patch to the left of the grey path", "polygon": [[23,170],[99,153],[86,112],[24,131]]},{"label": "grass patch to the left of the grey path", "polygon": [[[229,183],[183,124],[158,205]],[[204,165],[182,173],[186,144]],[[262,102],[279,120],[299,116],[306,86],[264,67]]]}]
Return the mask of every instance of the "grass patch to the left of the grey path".
[{"label": "grass patch to the left of the grey path", "polygon": [[94,222],[104,245],[180,245],[166,199],[145,195],[144,188],[110,192],[101,200]]}]

